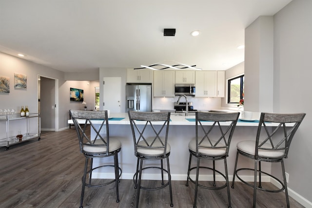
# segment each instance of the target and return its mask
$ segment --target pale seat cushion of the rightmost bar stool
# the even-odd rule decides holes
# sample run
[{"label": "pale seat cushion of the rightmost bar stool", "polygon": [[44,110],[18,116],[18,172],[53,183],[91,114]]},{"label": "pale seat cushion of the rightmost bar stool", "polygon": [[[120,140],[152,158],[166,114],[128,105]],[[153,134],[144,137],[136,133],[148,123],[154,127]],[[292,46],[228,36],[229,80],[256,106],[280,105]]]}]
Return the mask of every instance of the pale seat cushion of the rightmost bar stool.
[{"label": "pale seat cushion of the rightmost bar stool", "polygon": [[[264,144],[263,148],[272,148],[270,144]],[[237,149],[248,154],[254,155],[255,141],[241,141],[237,143]],[[278,158],[284,156],[284,151],[281,150],[258,150],[258,155],[261,157]]]}]

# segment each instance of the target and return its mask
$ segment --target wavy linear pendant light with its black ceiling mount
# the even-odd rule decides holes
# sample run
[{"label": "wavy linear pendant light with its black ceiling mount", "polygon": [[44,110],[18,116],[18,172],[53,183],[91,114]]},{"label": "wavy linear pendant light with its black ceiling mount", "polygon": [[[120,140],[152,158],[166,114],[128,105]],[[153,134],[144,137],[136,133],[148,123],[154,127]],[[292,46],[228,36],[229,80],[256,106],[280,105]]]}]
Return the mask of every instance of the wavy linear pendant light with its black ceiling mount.
[{"label": "wavy linear pendant light with its black ceiling mount", "polygon": [[[164,29],[164,36],[175,36],[176,35],[176,29]],[[167,60],[168,62],[168,60]],[[151,69],[151,70],[164,70],[164,69],[174,69],[174,70],[182,70],[182,69],[192,69],[192,70],[202,70],[199,68],[196,68],[196,65],[187,65],[180,62],[176,62],[173,60],[169,60],[169,62],[173,62],[173,64],[166,64],[166,63],[154,63],[149,66],[141,65],[140,68],[135,68],[134,70],[140,70],[140,69]]]}]

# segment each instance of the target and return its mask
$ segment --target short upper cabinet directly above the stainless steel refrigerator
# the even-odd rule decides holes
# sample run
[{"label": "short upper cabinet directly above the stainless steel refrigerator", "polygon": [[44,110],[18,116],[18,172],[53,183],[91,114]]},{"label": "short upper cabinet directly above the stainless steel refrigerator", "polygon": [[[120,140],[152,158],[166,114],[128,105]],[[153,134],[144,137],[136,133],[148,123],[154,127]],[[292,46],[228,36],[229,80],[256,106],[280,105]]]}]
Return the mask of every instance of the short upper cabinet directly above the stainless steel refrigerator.
[{"label": "short upper cabinet directly above the stainless steel refrigerator", "polygon": [[127,69],[127,83],[152,83],[153,71],[149,69]]}]

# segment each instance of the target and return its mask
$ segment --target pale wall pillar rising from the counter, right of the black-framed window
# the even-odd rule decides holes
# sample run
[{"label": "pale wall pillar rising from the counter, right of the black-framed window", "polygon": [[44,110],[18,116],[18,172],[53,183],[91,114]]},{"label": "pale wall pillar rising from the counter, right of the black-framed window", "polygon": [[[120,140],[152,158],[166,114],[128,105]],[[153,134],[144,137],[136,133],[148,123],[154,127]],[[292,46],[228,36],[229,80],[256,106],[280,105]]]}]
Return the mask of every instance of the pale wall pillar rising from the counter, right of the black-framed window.
[{"label": "pale wall pillar rising from the counter, right of the black-framed window", "polygon": [[245,29],[244,110],[272,112],[272,89],[273,16],[261,16]]}]

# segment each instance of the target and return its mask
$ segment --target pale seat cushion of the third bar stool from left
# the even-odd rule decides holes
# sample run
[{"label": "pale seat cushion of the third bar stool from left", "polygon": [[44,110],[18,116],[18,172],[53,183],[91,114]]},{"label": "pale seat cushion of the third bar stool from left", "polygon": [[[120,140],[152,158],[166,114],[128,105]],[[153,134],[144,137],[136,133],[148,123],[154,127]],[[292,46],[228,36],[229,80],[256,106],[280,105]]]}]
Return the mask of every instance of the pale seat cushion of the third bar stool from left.
[{"label": "pale seat cushion of the third bar stool from left", "polygon": [[[213,141],[213,143],[215,143]],[[204,140],[200,145],[206,147],[198,147],[198,152],[203,155],[216,156],[224,155],[226,153],[226,148],[212,148],[208,140]],[[223,147],[224,144],[218,144],[217,147]],[[192,139],[189,142],[189,149],[196,152],[196,139]]]}]

